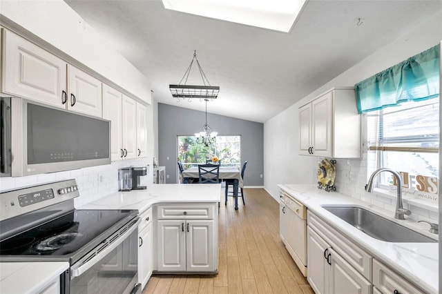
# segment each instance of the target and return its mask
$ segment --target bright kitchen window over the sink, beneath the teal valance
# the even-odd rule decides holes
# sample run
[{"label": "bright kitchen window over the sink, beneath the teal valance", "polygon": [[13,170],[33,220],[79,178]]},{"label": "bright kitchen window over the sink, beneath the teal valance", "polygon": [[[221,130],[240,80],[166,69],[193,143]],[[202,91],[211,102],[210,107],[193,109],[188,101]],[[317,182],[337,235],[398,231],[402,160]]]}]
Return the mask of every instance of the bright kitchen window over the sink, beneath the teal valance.
[{"label": "bright kitchen window over the sink, beneath the teal valance", "polygon": [[[439,178],[439,97],[367,112],[367,139],[369,166],[412,175],[404,188],[416,175]],[[381,188],[394,184],[390,173],[378,180]]]}]

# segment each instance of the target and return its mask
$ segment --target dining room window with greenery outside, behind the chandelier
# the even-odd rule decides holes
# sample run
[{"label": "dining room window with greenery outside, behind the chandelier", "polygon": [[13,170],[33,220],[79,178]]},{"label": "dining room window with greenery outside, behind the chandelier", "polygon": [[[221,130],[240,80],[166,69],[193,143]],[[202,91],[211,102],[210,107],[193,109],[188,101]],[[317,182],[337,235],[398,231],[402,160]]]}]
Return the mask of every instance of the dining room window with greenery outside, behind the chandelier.
[{"label": "dining room window with greenery outside, behind the chandelier", "polygon": [[177,136],[177,159],[184,169],[205,164],[206,159],[218,157],[222,166],[241,166],[241,136],[217,136],[215,143],[205,146],[195,136]]}]

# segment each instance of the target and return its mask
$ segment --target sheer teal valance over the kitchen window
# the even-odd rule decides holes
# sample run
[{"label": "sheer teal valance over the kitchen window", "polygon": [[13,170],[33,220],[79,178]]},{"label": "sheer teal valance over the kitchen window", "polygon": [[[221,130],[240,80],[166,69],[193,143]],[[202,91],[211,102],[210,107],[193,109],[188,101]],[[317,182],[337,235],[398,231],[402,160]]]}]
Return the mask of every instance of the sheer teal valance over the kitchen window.
[{"label": "sheer teal valance over the kitchen window", "polygon": [[358,112],[438,97],[439,56],[436,45],[356,84]]}]

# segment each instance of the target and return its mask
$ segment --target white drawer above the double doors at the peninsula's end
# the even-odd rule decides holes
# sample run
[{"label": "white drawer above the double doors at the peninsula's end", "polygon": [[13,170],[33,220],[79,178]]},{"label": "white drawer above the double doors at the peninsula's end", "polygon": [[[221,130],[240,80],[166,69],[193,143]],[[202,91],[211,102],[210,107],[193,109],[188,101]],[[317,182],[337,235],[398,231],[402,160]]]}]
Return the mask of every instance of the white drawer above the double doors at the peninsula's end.
[{"label": "white drawer above the double doors at the peninsula's end", "polygon": [[169,204],[157,206],[158,219],[213,219],[215,204]]}]

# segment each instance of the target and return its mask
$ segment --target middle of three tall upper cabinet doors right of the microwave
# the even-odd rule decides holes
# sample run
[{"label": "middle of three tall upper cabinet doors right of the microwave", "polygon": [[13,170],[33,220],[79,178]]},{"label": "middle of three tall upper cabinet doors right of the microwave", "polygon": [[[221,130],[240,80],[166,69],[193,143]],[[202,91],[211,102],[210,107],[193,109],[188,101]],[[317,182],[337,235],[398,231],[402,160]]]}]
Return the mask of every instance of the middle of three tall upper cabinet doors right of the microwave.
[{"label": "middle of three tall upper cabinet doors right of the microwave", "polygon": [[123,127],[123,159],[137,157],[137,102],[123,95],[122,127]]}]

